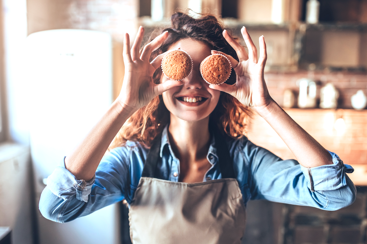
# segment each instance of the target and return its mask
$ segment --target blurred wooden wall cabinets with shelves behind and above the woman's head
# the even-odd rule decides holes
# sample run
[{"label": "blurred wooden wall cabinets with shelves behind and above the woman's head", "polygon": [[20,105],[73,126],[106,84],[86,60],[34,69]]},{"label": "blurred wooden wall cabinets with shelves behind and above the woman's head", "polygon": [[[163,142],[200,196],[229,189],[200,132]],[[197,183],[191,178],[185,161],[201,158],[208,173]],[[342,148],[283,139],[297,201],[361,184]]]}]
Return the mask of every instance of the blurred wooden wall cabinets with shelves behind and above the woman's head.
[{"label": "blurred wooden wall cabinets with shelves behind and above the woman's head", "polygon": [[147,1],[139,1],[140,16],[149,15],[153,4],[158,4],[161,20],[152,22],[145,16],[142,25],[160,26],[173,12],[191,8],[221,16],[238,36],[246,26],[257,46],[257,38],[264,35],[266,71],[367,70],[367,0],[319,0],[320,23],[316,25],[304,22],[307,0]]}]

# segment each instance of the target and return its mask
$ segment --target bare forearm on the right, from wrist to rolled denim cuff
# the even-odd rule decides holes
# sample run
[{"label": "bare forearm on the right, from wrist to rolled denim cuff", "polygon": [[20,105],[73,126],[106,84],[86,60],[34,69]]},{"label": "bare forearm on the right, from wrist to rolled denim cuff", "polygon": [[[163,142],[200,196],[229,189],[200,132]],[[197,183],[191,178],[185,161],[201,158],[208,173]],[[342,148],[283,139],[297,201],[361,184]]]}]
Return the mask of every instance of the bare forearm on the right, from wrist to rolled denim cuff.
[{"label": "bare forearm on the right, from wrist to rolled denim cuff", "polygon": [[257,112],[277,132],[295,155],[299,164],[306,168],[333,164],[330,153],[299,126],[273,100]]}]

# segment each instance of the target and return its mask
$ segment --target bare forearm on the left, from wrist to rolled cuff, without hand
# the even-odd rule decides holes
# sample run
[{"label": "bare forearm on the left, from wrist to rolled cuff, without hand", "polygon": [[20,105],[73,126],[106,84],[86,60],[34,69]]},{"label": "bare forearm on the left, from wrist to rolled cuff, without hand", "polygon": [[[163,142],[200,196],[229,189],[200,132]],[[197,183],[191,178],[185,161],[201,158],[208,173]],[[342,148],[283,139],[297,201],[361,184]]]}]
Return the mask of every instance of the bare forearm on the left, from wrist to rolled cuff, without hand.
[{"label": "bare forearm on the left, from wrist to rolled cuff, without hand", "polygon": [[113,138],[134,112],[130,107],[113,102],[75,151],[65,158],[66,169],[78,180],[92,179]]}]

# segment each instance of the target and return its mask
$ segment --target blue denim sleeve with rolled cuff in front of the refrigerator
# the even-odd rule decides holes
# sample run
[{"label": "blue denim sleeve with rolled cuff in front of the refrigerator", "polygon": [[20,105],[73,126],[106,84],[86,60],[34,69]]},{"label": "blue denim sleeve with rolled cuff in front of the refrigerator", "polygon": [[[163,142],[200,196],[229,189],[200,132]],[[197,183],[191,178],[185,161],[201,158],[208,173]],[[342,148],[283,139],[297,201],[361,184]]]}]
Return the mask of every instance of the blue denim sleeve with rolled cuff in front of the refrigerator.
[{"label": "blue denim sleeve with rolled cuff in front of the refrigerator", "polygon": [[47,178],[39,203],[41,214],[63,223],[123,200],[129,177],[128,154],[126,148],[111,150],[89,181],[77,180],[62,161]]}]

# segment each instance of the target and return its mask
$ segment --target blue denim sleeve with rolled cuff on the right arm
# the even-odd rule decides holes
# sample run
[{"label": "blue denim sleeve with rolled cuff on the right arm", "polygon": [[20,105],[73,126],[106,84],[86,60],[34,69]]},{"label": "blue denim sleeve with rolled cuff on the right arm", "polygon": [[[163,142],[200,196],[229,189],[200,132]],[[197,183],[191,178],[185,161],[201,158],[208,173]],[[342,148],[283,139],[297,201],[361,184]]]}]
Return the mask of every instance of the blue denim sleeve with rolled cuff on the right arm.
[{"label": "blue denim sleeve with rolled cuff on the right arm", "polygon": [[356,198],[356,187],[346,175],[353,168],[334,153],[330,153],[333,164],[305,168],[294,159],[282,160],[250,141],[244,143],[241,152],[250,171],[251,199],[337,210]]}]

